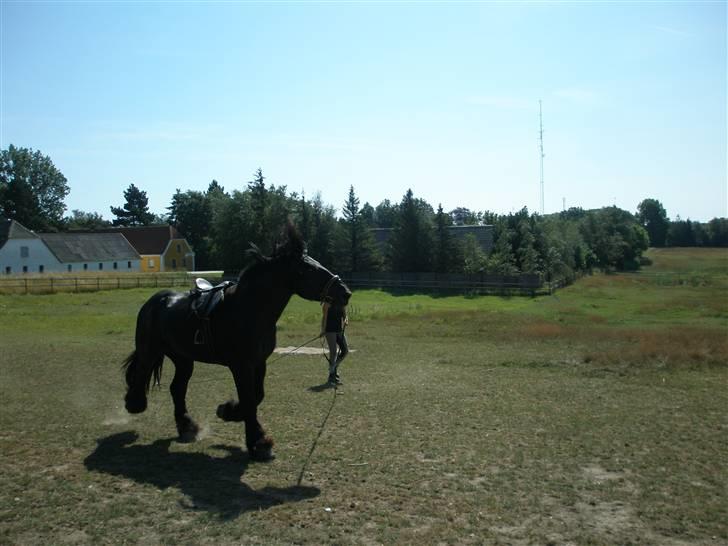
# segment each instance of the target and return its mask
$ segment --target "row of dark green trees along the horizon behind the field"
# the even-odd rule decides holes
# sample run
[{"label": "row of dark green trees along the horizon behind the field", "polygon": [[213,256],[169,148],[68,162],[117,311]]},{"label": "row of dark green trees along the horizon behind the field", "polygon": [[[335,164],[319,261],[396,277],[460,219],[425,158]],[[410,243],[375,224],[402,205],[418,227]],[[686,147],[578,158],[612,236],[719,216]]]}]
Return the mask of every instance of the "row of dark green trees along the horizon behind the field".
[{"label": "row of dark green trees along the horizon behind the field", "polygon": [[[350,187],[337,216],[320,194],[307,197],[267,184],[258,169],[241,189],[226,191],[215,180],[205,191],[177,189],[164,215],[151,213],[146,192],[130,184],[107,221],[79,210],[64,216],[68,193],[49,157],[12,145],[0,151],[0,215],[36,231],[167,223],[188,239],[201,269],[242,268],[250,242],[272,251],[288,219],[309,253],[336,271],[536,273],[551,280],[593,268],[636,269],[648,246],[728,246],[728,219],[671,221],[656,199],[643,200],[635,214],[604,207],[549,215],[523,208],[503,215],[466,207],[446,212],[441,205],[435,210],[411,189],[399,202],[362,205]],[[492,250],[486,253],[472,235],[456,237],[453,225],[492,226]],[[373,228],[391,229],[386,245],[375,241]]]}]

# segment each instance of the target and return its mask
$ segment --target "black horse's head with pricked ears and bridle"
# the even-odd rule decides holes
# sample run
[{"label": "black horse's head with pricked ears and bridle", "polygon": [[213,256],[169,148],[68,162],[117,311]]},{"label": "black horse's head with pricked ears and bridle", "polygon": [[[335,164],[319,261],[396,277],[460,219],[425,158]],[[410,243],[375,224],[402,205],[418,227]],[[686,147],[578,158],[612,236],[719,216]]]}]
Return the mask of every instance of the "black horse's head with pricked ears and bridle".
[{"label": "black horse's head with pricked ears and bridle", "polygon": [[334,275],[323,265],[306,254],[306,245],[298,230],[289,224],[286,241],[279,245],[276,254],[290,260],[293,290],[307,300],[328,301],[346,305],[351,290],[338,275]]}]

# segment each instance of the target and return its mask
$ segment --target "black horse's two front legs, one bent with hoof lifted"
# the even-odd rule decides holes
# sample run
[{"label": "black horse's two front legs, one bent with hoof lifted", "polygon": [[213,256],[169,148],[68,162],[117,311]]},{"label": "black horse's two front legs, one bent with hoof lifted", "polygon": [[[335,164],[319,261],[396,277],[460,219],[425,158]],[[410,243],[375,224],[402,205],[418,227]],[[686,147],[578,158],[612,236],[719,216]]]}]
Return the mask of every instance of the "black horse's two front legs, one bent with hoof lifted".
[{"label": "black horse's two front legs, one bent with hoof lifted", "polygon": [[266,436],[258,422],[258,404],[262,400],[258,387],[265,378],[264,367],[243,364],[231,366],[238,402],[229,401],[217,408],[223,421],[245,422],[245,445],[251,459],[267,461],[273,458],[273,440]]}]

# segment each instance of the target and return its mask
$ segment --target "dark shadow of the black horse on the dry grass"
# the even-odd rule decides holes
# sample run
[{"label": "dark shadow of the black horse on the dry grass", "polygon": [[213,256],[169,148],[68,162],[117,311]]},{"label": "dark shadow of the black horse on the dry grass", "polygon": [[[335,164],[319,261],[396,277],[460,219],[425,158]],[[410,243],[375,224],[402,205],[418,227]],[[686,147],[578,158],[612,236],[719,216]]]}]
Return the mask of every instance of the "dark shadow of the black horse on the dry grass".
[{"label": "dark shadow of the black horse on the dry grass", "polygon": [[127,431],[98,440],[84,460],[87,469],[151,484],[159,489],[178,488],[188,497],[180,504],[191,510],[216,513],[232,519],[250,510],[263,510],[287,502],[316,497],[315,487],[264,487],[254,490],[240,481],[248,467],[248,454],[240,448],[214,446],[224,457],[205,453],[170,452],[173,439],[133,445],[138,435]]}]

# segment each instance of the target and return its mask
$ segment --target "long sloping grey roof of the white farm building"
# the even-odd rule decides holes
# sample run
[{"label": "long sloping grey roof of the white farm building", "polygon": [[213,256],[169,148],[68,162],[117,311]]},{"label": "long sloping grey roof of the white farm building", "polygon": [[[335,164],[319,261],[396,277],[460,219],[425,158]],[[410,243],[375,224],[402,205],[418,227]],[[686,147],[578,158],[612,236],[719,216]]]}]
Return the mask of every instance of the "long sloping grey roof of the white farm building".
[{"label": "long sloping grey roof of the white farm building", "polygon": [[121,233],[40,233],[46,246],[63,263],[139,260]]}]

